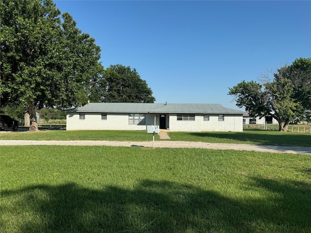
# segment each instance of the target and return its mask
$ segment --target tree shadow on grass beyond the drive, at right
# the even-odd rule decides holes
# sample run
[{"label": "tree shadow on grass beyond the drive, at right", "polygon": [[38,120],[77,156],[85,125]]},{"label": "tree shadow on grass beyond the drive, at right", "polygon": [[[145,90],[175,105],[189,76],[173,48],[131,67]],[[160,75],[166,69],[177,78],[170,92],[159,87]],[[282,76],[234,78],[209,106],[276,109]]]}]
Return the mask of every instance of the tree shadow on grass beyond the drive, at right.
[{"label": "tree shadow on grass beyond the drive, at right", "polygon": [[[255,131],[256,132],[256,131]],[[270,133],[242,133],[242,132],[230,132],[230,133],[211,133],[211,132],[202,132],[202,133],[188,133],[196,137],[209,137],[209,138],[221,138],[236,140],[240,142],[251,142],[252,144],[258,145],[283,145],[283,146],[299,146],[299,147],[310,147],[310,135],[309,134],[291,134],[279,132],[278,134]],[[173,140],[173,139],[172,139]],[[208,140],[209,142],[212,142]],[[202,141],[203,142],[203,141]]]}]

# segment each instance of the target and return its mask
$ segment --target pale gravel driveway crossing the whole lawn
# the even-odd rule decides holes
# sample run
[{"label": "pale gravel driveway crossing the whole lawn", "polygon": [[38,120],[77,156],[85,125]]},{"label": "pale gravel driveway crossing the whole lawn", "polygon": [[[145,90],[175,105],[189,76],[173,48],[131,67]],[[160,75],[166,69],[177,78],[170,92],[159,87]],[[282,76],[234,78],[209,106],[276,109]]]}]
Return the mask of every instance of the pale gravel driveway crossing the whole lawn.
[{"label": "pale gravel driveway crossing the whole lawn", "polygon": [[[113,146],[113,147],[153,147],[150,142],[119,142],[119,141],[31,141],[31,140],[0,140],[0,146],[17,145],[60,145],[60,146]],[[249,144],[225,144],[184,141],[155,141],[155,148],[204,148],[214,150],[253,150],[272,153],[293,153],[311,155],[311,147],[287,147]]]}]

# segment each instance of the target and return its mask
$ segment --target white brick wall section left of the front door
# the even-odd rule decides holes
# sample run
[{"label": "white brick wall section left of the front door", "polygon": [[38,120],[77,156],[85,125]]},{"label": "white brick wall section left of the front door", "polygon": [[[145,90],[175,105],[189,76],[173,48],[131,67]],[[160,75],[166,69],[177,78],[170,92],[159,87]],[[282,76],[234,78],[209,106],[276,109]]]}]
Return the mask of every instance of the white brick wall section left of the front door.
[{"label": "white brick wall section left of the front door", "polygon": [[107,113],[107,119],[102,120],[101,113],[85,113],[85,119],[79,119],[79,113],[67,113],[66,130],[147,130],[147,125],[154,125],[154,114],[146,114],[145,125],[129,124],[126,113]]}]

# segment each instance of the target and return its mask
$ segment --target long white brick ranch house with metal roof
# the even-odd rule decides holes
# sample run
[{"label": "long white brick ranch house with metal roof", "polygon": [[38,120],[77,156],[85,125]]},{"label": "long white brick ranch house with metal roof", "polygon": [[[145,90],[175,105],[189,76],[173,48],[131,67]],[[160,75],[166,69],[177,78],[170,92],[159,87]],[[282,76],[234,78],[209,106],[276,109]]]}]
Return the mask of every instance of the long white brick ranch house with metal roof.
[{"label": "long white brick ranch house with metal roof", "polygon": [[147,130],[242,132],[243,113],[220,104],[88,103],[67,112],[66,130]]}]

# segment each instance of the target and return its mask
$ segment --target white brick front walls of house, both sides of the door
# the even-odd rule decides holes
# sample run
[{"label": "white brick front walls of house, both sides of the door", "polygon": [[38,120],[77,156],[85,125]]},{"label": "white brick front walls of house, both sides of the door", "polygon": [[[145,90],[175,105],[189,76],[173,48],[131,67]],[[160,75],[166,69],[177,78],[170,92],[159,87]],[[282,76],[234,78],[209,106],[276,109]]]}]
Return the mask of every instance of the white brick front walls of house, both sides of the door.
[{"label": "white brick front walls of house, both sides of the door", "polygon": [[[66,130],[147,130],[147,125],[159,125],[160,114],[146,114],[145,125],[129,124],[129,115],[125,113],[107,113],[102,120],[101,113],[85,113],[85,119],[79,119],[79,113],[67,114]],[[177,120],[177,114],[166,114],[166,128],[170,131],[223,131],[242,132],[242,114],[225,114],[225,120],[219,121],[218,114],[209,114],[204,120],[203,114],[195,114],[195,120]]]}]

